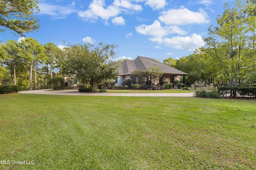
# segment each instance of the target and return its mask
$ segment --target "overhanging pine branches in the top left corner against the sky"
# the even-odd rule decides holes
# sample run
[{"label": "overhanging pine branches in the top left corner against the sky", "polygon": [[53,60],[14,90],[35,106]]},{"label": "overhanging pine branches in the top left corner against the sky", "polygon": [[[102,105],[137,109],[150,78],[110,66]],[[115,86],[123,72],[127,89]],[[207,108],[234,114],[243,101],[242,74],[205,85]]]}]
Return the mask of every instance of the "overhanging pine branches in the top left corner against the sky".
[{"label": "overhanging pine branches in the top left corner against the sky", "polygon": [[24,37],[24,33],[39,28],[34,13],[39,12],[37,0],[2,0],[0,2],[0,32],[6,29]]}]

